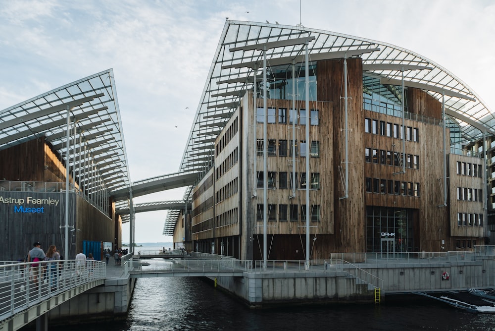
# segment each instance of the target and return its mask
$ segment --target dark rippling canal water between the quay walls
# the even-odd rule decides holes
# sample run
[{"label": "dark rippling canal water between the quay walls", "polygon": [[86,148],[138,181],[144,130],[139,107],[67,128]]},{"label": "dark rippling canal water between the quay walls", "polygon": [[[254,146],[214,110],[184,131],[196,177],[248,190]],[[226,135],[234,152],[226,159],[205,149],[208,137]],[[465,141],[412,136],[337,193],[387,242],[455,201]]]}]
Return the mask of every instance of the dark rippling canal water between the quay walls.
[{"label": "dark rippling canal water between the quay walls", "polygon": [[416,296],[407,302],[393,297],[379,306],[370,303],[251,310],[197,277],[141,278],[125,322],[49,329],[495,331],[495,314],[471,314]]}]

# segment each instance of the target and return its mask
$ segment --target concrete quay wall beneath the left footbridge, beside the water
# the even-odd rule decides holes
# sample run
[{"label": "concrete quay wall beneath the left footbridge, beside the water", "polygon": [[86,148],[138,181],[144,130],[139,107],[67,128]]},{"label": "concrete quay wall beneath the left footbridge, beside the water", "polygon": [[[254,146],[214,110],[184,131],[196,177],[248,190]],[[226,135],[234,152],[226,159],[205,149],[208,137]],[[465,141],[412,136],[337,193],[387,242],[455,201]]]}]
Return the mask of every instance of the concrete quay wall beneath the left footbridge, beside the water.
[{"label": "concrete quay wall beneath the left footbridge, beside the water", "polygon": [[125,320],[136,284],[135,278],[106,279],[50,310],[50,325]]}]

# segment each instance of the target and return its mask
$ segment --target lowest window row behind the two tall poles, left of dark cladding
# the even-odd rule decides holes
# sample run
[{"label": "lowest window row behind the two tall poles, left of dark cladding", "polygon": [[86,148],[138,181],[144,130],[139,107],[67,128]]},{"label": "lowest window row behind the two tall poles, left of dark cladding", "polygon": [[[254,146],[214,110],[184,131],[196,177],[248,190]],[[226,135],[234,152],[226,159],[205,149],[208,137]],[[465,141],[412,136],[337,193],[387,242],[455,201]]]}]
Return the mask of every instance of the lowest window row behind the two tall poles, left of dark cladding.
[{"label": "lowest window row behind the two tall poles, left of dark cladding", "polygon": [[[278,208],[277,208],[278,206]],[[267,210],[268,221],[306,221],[306,205],[275,205],[269,204]],[[320,221],[320,205],[311,205],[309,211],[312,222]],[[263,205],[256,205],[256,221],[263,221]]]}]

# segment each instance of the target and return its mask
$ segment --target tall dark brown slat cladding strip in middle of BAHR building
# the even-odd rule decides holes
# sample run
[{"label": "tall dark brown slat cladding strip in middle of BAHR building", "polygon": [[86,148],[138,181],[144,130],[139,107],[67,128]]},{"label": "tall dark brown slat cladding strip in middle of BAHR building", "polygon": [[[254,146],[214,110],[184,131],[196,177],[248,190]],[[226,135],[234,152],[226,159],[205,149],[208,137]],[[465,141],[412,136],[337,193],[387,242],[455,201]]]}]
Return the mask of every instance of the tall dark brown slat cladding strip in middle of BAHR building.
[{"label": "tall dark brown slat cladding strip in middle of BAHR building", "polygon": [[[348,116],[348,197],[344,197],[343,181],[339,169],[345,171],[345,98],[344,59],[318,61],[318,100],[333,102],[332,126],[328,134],[333,139],[333,165],[329,169],[334,178],[335,235],[326,249],[339,252],[361,252],[365,249],[364,237],[364,172],[362,110],[362,61],[347,59],[347,116]],[[357,229],[357,230],[356,230]],[[361,230],[362,229],[362,230]],[[327,251],[328,253],[328,251]],[[325,254],[322,252],[322,257]]]}]

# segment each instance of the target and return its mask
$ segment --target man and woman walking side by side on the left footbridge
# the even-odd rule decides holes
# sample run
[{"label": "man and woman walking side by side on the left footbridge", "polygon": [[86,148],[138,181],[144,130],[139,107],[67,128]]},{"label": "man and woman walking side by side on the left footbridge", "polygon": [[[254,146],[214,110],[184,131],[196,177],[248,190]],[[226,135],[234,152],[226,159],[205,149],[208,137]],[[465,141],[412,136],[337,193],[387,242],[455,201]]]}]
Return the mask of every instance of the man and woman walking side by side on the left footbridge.
[{"label": "man and woman walking side by side on the left footbridge", "polygon": [[[26,262],[34,262],[31,264],[32,279],[34,283],[38,283],[39,277],[41,276],[44,280],[46,277],[49,278],[50,287],[56,287],[57,285],[57,274],[63,265],[63,262],[57,262],[63,260],[63,257],[58,252],[55,245],[50,245],[47,252],[41,249],[41,243],[35,242],[33,248],[29,251]],[[41,266],[41,261],[51,261],[47,264]],[[57,271],[58,266],[58,271]]]}]

